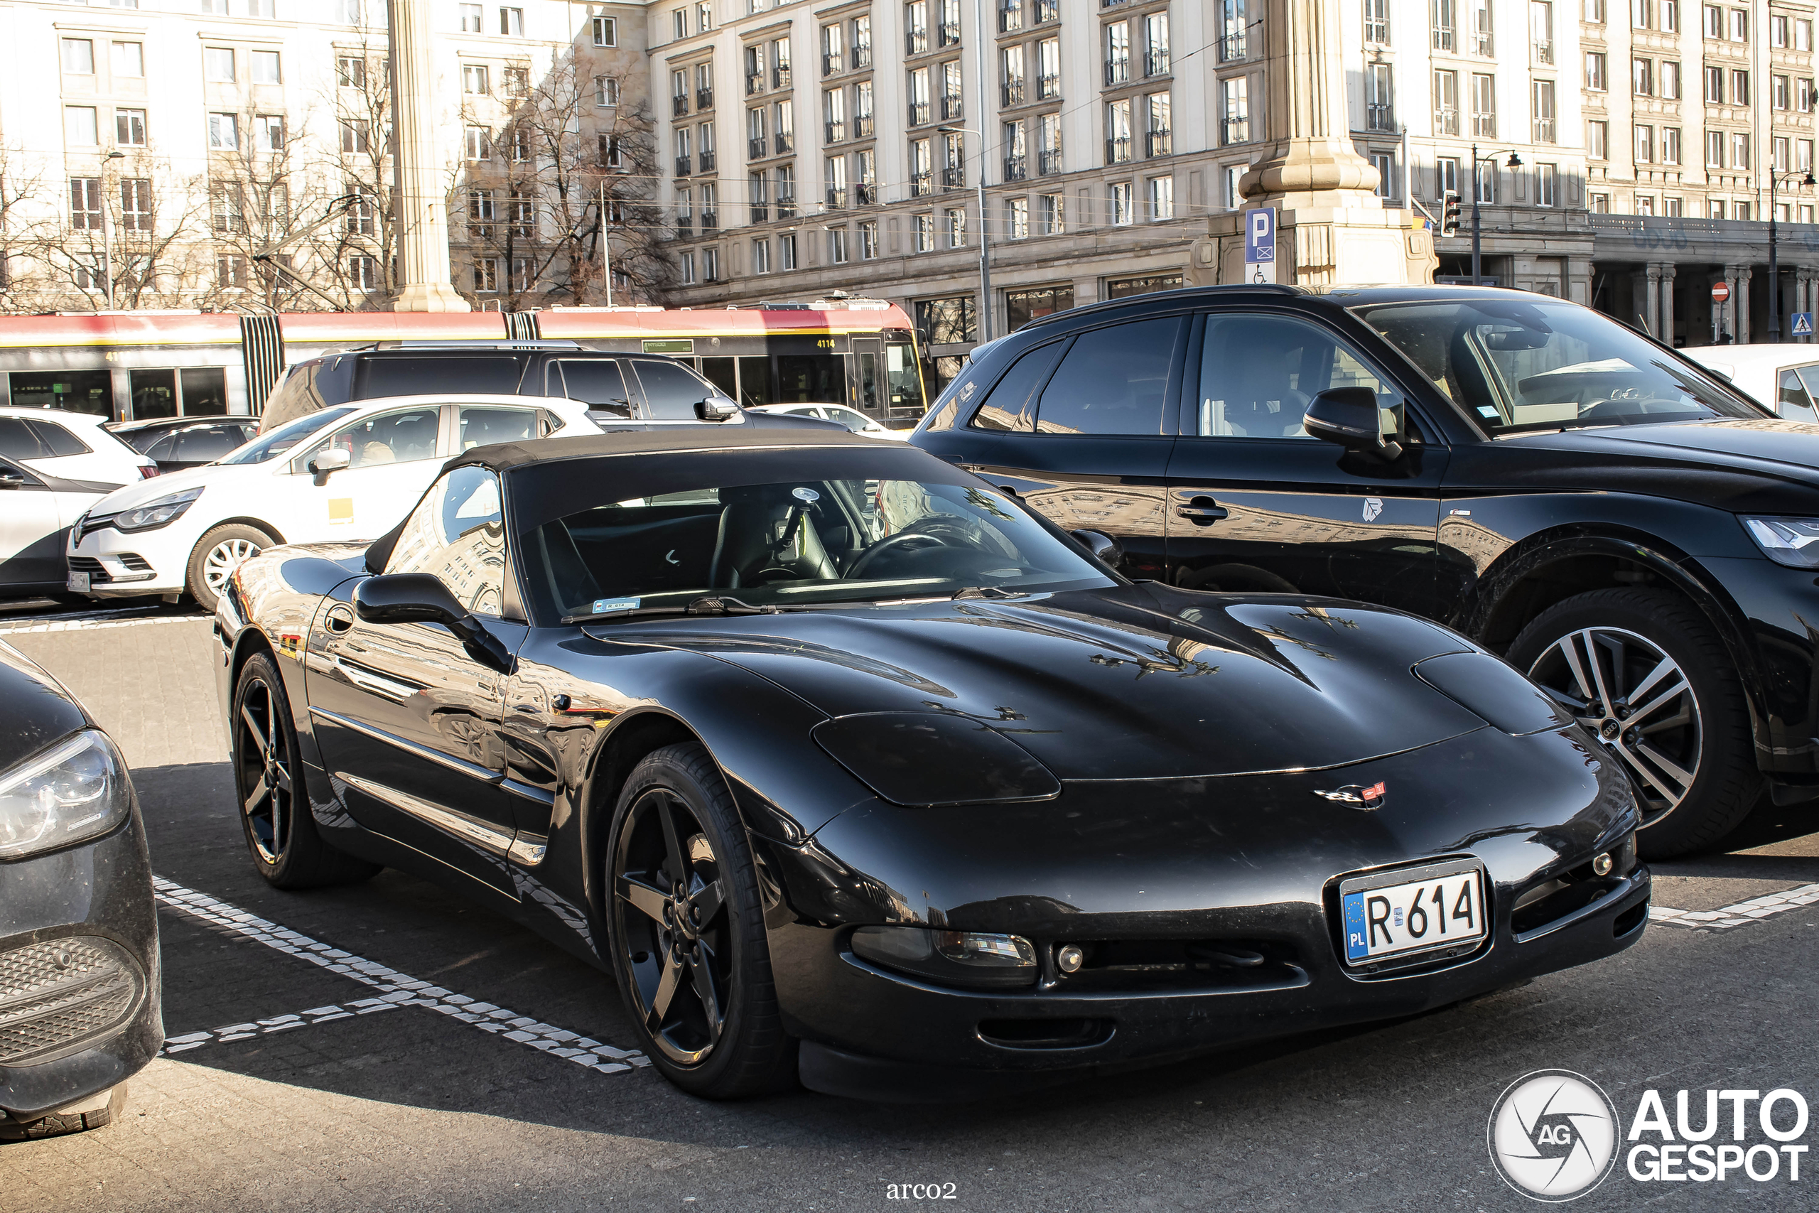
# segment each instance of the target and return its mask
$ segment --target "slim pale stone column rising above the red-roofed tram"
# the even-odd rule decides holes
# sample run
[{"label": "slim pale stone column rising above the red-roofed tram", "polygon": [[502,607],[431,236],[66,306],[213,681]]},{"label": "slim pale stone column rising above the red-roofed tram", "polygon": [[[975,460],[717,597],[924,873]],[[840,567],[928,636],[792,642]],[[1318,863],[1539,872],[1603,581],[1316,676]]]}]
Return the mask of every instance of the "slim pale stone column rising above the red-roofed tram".
[{"label": "slim pale stone column rising above the red-roofed tram", "polygon": [[469,311],[449,284],[447,182],[437,156],[429,0],[391,0],[391,164],[404,276],[393,311]]}]

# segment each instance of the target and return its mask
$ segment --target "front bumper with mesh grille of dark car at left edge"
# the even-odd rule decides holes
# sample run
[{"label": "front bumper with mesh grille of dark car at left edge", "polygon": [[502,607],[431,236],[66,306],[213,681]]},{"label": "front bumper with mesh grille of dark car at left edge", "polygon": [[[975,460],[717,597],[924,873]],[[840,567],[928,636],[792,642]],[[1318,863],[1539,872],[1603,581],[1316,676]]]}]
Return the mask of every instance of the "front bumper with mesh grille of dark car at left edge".
[{"label": "front bumper with mesh grille of dark car at left edge", "polygon": [[[129,995],[60,980],[96,953],[116,958]],[[33,1120],[129,1078],[164,1046],[160,1002],[136,798],[106,838],[0,864],[0,1118]]]}]

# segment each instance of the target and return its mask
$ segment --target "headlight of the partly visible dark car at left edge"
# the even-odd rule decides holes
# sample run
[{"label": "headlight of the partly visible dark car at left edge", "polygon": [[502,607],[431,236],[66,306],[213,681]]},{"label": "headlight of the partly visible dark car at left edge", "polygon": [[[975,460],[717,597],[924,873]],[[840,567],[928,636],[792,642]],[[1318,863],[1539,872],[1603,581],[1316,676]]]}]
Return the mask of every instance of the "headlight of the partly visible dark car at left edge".
[{"label": "headlight of the partly visible dark car at left edge", "polygon": [[126,820],[133,784],[107,735],[85,729],[0,773],[0,860],[100,838]]}]

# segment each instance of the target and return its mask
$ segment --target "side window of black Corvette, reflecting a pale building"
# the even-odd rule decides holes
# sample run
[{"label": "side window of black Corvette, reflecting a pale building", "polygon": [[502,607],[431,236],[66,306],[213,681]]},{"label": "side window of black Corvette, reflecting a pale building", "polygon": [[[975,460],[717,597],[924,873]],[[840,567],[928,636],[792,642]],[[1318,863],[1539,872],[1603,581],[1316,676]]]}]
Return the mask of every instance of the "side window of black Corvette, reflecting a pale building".
[{"label": "side window of black Corvette, reflecting a pale building", "polygon": [[506,587],[506,520],[498,476],[457,467],[435,482],[398,531],[387,573],[429,573],[475,615],[498,615]]}]

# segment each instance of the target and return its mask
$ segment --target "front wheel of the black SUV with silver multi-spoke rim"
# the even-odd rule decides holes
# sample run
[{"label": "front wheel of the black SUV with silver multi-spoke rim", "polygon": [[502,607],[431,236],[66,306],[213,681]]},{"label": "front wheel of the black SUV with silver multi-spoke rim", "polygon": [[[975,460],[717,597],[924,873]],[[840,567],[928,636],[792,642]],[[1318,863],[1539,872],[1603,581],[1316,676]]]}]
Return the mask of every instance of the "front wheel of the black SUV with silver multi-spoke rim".
[{"label": "front wheel of the black SUV with silver multi-spoke rim", "polygon": [[1713,846],[1763,793],[1743,680],[1712,624],[1655,589],[1597,589],[1537,615],[1510,662],[1553,693],[1635,787],[1648,858]]}]

